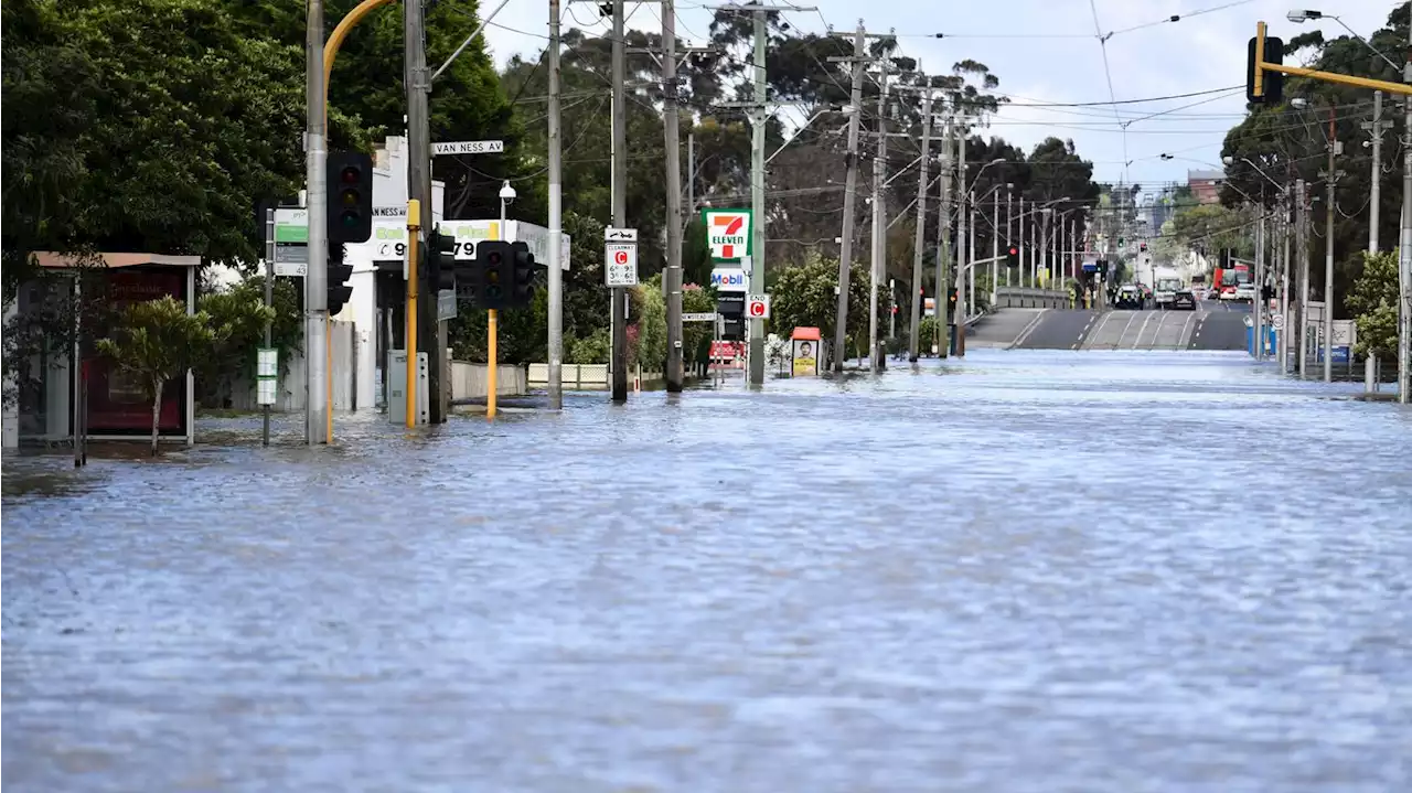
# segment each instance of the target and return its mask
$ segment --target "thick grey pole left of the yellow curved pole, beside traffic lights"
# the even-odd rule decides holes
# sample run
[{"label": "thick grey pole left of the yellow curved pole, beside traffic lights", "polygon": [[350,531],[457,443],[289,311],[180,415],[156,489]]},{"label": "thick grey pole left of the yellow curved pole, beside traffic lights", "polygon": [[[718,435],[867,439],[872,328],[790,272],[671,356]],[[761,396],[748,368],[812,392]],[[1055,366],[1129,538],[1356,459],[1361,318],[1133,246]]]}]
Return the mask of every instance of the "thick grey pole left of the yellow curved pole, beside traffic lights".
[{"label": "thick grey pole left of the yellow curved pole, beside traffic lights", "polygon": [[[305,178],[309,210],[309,262],[304,277],[304,437],[309,446],[328,443],[328,319],[329,319],[329,219],[328,150],[323,121],[323,0],[309,0],[305,31]],[[76,436],[78,433],[75,433]]]}]

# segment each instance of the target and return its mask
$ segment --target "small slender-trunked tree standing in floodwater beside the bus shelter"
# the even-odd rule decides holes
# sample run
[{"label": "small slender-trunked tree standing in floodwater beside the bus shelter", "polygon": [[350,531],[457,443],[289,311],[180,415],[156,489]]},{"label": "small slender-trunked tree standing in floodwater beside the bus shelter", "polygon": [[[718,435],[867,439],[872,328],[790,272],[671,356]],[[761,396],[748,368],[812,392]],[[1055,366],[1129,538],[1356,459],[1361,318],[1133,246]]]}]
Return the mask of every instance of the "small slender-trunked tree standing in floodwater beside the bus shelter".
[{"label": "small slender-trunked tree standing in floodwater beside the bus shelter", "polygon": [[186,313],[186,306],[172,296],[133,303],[123,310],[116,337],[99,339],[97,351],[123,371],[133,374],[152,401],[152,456],[157,456],[157,429],[161,419],[162,389],[205,356],[216,343],[210,315]]}]

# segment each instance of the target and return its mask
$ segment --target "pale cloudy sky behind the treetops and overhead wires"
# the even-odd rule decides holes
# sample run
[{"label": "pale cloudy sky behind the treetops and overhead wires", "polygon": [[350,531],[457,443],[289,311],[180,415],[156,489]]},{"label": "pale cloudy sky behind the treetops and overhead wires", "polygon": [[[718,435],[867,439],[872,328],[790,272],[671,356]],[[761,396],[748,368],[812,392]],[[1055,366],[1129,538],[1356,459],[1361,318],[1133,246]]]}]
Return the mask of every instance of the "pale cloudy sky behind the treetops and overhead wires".
[{"label": "pale cloudy sky behind the treetops and overhead wires", "polygon": [[[777,1],[778,0],[771,0]],[[1298,1],[1298,0],[1296,0]],[[986,63],[1000,78],[998,92],[1012,104],[994,119],[998,134],[1025,150],[1053,134],[1073,138],[1094,162],[1097,181],[1185,182],[1187,169],[1219,167],[1221,140],[1244,114],[1245,42],[1265,20],[1272,35],[1289,40],[1319,25],[1326,38],[1343,34],[1333,20],[1296,25],[1285,18],[1295,7],[1339,14],[1363,35],[1381,25],[1392,0],[792,0],[818,11],[785,13],[798,30],[826,25],[851,31],[863,21],[870,32],[897,32],[901,52],[919,58],[928,72],[962,59]],[[1406,0],[1402,0],[1406,1]],[[480,0],[484,13],[497,6]],[[698,0],[678,3],[678,35],[692,44],[707,35],[710,11]],[[599,18],[594,3],[565,3],[565,30]],[[572,16],[570,16],[572,11]],[[628,4],[631,27],[661,30],[655,3]],[[1176,23],[1165,21],[1179,14]],[[1097,17],[1097,23],[1094,20]],[[487,28],[497,63],[511,55],[534,58],[545,45],[546,0],[510,0]],[[517,28],[515,32],[507,28]],[[1128,30],[1137,28],[1137,30]],[[1111,32],[1100,44],[1096,31]],[[942,32],[946,37],[935,38]],[[1107,68],[1104,68],[1104,51]],[[1391,54],[1398,59],[1398,54]],[[1111,95],[1110,95],[1111,79]],[[1024,104],[1107,103],[1233,89],[1152,103],[1089,107]],[[1236,90],[1238,87],[1238,90]],[[1197,104],[1193,104],[1197,103]],[[1182,107],[1193,104],[1190,107]],[[1118,119],[1131,121],[1124,133]],[[1141,119],[1171,110],[1171,113]],[[1159,159],[1172,154],[1171,161]]]}]

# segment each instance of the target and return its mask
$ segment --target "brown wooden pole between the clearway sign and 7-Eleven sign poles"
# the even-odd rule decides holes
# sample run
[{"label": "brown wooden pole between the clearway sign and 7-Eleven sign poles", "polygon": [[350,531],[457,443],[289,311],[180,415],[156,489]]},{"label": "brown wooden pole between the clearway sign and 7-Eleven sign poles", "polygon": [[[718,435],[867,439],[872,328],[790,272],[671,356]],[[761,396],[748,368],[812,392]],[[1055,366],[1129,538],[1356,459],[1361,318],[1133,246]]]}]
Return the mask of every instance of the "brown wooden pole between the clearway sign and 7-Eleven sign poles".
[{"label": "brown wooden pole between the clearway sign and 7-Eleven sign poles", "polygon": [[[666,391],[682,389],[682,137],[676,117],[676,7],[662,0],[662,127],[666,135]],[[761,356],[764,358],[764,356]]]}]

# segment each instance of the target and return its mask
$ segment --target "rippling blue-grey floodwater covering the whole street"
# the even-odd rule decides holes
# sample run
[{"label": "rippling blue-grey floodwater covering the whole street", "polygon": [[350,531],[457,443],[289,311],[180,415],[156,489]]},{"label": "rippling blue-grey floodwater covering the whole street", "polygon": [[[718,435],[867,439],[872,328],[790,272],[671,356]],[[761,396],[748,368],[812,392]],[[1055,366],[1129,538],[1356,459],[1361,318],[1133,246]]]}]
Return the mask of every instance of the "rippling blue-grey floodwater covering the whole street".
[{"label": "rippling blue-grey floodwater covering the whole street", "polygon": [[8,459],[0,789],[1406,792],[1412,412],[1269,370]]}]

